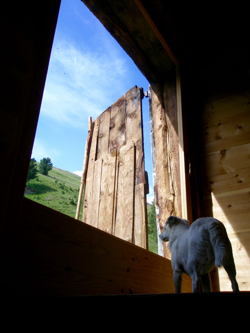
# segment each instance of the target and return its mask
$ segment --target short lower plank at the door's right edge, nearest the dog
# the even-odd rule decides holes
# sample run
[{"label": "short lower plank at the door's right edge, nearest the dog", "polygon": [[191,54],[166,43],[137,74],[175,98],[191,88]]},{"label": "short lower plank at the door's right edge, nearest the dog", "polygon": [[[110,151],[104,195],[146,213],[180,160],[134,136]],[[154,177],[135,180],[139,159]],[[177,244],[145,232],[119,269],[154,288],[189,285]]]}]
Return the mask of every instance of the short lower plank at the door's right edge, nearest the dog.
[{"label": "short lower plank at the door's right edge, nearest the dog", "polygon": [[148,249],[148,220],[145,184],[135,185],[134,243]]}]

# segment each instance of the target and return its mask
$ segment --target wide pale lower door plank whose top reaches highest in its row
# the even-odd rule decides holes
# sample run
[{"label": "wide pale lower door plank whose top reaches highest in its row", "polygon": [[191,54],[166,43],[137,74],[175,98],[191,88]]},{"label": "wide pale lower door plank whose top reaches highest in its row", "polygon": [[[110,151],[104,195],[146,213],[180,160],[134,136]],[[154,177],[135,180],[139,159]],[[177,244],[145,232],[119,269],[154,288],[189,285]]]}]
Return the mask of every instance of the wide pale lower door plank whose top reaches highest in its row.
[{"label": "wide pale lower door plank whose top reaches highest in its row", "polygon": [[134,242],[134,164],[134,143],[121,147],[119,151],[115,236],[130,243]]}]

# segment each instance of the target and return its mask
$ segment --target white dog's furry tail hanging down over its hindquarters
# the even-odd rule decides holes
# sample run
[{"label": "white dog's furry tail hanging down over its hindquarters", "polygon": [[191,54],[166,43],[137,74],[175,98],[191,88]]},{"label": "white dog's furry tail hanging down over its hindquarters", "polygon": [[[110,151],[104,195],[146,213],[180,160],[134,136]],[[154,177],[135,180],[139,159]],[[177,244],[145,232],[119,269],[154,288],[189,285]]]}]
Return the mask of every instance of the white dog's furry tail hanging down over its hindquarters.
[{"label": "white dog's furry tail hanging down over its hindquarters", "polygon": [[230,242],[226,228],[222,222],[213,218],[209,223],[208,232],[215,255],[215,265],[221,267],[226,260],[228,242]]}]

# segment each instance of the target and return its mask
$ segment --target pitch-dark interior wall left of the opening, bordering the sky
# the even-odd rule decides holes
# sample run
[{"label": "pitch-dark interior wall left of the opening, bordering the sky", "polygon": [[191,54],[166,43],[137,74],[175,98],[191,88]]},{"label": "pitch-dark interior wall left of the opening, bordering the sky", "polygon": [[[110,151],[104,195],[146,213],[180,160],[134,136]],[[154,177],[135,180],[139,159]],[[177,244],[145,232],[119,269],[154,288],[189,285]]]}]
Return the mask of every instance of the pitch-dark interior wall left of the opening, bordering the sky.
[{"label": "pitch-dark interior wall left of the opening, bordering the sky", "polygon": [[6,272],[18,228],[59,7],[60,0],[11,1],[1,6],[0,177],[4,195],[0,203],[0,242]]}]

